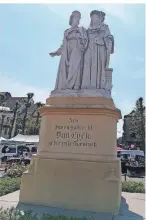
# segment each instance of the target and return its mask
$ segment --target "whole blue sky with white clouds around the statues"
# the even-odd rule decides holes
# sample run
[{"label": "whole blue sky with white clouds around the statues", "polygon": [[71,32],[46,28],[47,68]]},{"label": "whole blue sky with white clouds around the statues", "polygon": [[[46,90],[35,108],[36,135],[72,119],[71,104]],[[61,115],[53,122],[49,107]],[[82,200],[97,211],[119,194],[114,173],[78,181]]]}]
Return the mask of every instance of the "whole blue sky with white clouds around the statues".
[{"label": "whole blue sky with white clouds around the statues", "polygon": [[[73,10],[82,14],[88,27],[92,10],[103,10],[115,38],[113,98],[122,114],[132,110],[144,96],[144,5],[143,4],[4,4],[0,5],[0,91],[13,96],[35,93],[45,101],[54,88],[59,57],[57,49],[69,27]],[[118,125],[121,130],[122,122]]]}]

